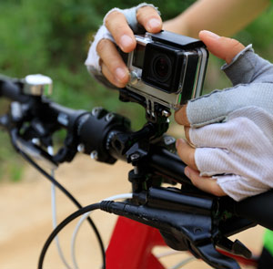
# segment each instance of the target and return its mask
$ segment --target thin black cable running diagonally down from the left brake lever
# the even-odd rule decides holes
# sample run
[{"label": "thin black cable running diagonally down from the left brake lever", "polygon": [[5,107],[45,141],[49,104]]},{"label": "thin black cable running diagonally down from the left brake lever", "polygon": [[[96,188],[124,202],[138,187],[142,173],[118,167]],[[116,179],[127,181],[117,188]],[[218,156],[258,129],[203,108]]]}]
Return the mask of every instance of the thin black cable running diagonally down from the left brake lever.
[{"label": "thin black cable running diagonally down from the left brake lever", "polygon": [[[19,153],[23,156],[23,158],[25,160],[27,160],[32,166],[35,167],[35,169],[37,171],[39,171],[40,173],[42,173],[45,178],[49,181],[51,181],[53,184],[56,185],[56,187],[60,190],[60,191],[63,191],[64,194],[66,194],[66,196],[71,200],[71,202],[73,202],[76,207],[78,209],[82,209],[83,206],[76,201],[76,198],[69,192],[66,190],[66,188],[61,185],[58,181],[56,181],[51,175],[49,175],[45,170],[43,170],[34,160],[32,160],[28,155],[25,154],[24,151],[16,148],[16,150],[19,151]],[[103,269],[106,269],[106,253],[105,253],[105,247],[104,247],[104,243],[102,241],[102,238],[96,228],[96,224],[92,221],[92,219],[90,217],[87,218],[87,221],[90,223],[90,225],[92,226],[93,230],[94,230],[94,233],[96,233],[96,238],[97,238],[97,241],[99,243],[99,246],[100,246],[100,249],[101,249],[101,253],[102,253],[102,258],[103,258]]]}]

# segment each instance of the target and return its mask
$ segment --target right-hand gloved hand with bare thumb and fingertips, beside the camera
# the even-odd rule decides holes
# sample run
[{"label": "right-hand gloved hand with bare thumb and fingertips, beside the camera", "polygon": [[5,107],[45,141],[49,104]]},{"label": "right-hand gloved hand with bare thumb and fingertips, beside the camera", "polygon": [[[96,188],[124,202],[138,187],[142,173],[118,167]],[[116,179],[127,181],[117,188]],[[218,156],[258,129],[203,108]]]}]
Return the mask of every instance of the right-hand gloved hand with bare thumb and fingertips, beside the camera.
[{"label": "right-hand gloved hand with bare thumb and fingertips, beside the camera", "polygon": [[176,112],[188,141],[177,140],[177,152],[198,188],[239,201],[273,187],[273,66],[234,39],[207,31],[200,39],[227,61],[223,69],[235,87]]}]

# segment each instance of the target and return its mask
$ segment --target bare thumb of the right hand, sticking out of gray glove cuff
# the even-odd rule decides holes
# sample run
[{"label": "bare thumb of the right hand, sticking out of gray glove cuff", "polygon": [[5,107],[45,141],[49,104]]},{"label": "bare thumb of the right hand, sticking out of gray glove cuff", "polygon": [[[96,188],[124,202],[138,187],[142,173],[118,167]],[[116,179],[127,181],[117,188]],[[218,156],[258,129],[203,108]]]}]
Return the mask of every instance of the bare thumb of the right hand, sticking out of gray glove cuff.
[{"label": "bare thumb of the right hand, sticking out of gray glove cuff", "polygon": [[227,64],[245,48],[245,46],[236,39],[218,36],[207,30],[201,31],[199,33],[199,38],[205,43],[207,49],[213,55],[225,60]]}]

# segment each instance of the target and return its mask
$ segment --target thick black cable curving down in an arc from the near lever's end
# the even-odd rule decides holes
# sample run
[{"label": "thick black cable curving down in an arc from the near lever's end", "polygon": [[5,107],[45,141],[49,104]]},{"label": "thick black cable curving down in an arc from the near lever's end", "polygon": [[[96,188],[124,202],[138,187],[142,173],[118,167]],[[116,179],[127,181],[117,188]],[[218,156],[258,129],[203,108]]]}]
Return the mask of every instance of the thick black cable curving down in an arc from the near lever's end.
[{"label": "thick black cable curving down in an arc from the near lever's end", "polygon": [[38,269],[43,269],[43,264],[44,264],[44,260],[45,260],[45,253],[47,252],[47,249],[50,246],[50,243],[52,243],[52,241],[54,240],[56,235],[58,233],[60,233],[69,222],[72,222],[77,217],[83,215],[86,212],[92,212],[92,211],[99,209],[99,208],[100,208],[100,202],[87,205],[86,207],[83,207],[83,208],[79,209],[78,211],[72,213],[63,222],[59,223],[56,226],[56,229],[49,235],[49,237],[47,238],[47,240],[44,244],[44,247],[43,247],[40,257],[39,257]]}]

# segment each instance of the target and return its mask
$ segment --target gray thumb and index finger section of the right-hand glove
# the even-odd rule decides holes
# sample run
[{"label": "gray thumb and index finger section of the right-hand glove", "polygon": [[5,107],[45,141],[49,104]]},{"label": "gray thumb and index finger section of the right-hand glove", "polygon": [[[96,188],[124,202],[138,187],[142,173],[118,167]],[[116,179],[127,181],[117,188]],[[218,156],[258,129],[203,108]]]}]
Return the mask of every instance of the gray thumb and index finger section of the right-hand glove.
[{"label": "gray thumb and index finger section of the right-hand glove", "polygon": [[191,127],[225,121],[231,111],[248,106],[265,109],[273,115],[272,64],[258,57],[248,46],[222,69],[236,86],[190,100],[187,119]]}]

